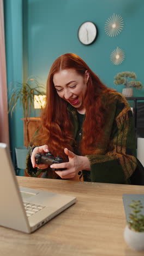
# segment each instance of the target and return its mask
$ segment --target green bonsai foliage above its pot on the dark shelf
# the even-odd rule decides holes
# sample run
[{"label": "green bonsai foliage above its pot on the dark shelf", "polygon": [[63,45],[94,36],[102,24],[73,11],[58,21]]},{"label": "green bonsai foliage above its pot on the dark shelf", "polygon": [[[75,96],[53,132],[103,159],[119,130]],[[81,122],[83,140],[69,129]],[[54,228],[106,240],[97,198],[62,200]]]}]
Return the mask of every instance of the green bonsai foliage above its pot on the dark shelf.
[{"label": "green bonsai foliage above its pot on the dark shelf", "polygon": [[143,87],[140,81],[129,80],[129,78],[136,79],[136,74],[134,72],[128,72],[128,71],[118,73],[115,76],[115,80],[113,82],[116,85],[123,84],[127,88],[133,87],[133,88],[141,89]]}]

